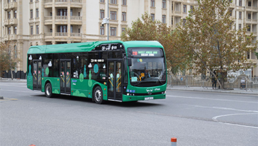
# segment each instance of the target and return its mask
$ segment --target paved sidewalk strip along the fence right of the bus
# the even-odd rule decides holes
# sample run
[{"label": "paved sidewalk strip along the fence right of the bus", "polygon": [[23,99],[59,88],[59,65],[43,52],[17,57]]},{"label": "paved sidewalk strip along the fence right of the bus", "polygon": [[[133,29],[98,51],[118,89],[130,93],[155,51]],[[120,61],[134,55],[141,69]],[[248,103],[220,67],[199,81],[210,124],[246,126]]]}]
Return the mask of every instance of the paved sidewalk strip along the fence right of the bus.
[{"label": "paved sidewalk strip along the fence right of the bus", "polygon": [[232,88],[231,90],[213,89],[211,87],[192,87],[192,86],[167,86],[167,90],[186,90],[186,91],[199,91],[199,92],[227,92],[245,95],[258,95],[257,89],[241,90],[240,88]]}]

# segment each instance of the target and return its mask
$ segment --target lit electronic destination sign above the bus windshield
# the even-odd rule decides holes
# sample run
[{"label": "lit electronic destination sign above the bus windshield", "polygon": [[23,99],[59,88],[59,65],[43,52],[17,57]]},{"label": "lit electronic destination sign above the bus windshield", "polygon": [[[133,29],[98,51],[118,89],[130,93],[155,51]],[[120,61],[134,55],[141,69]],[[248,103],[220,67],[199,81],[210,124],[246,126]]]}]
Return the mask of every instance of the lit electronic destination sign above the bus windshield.
[{"label": "lit electronic destination sign above the bus windshield", "polygon": [[129,52],[131,52],[132,56],[138,56],[138,57],[160,57],[162,56],[162,49],[129,49]]}]

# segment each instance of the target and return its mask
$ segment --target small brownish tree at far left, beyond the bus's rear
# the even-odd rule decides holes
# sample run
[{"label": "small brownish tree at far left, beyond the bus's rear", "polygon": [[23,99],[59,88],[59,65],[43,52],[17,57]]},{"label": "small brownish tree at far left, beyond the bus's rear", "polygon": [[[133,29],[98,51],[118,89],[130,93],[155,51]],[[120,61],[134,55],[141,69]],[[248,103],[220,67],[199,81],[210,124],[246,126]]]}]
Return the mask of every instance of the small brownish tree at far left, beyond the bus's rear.
[{"label": "small brownish tree at far left, beyond the bus's rear", "polygon": [[[18,61],[15,56],[12,56],[15,52],[13,47],[11,47],[11,43],[0,42],[0,77],[3,76],[4,70],[12,71],[15,69],[16,63]],[[13,79],[13,72],[11,72],[11,76]]]}]

